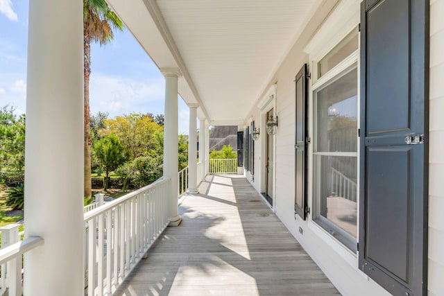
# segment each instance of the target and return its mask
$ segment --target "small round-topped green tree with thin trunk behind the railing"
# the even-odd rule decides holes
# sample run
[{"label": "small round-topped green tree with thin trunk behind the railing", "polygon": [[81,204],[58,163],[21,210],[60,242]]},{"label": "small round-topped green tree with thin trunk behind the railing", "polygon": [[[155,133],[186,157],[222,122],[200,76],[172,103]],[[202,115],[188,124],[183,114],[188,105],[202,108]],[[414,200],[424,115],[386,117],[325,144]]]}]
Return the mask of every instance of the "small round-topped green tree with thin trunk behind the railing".
[{"label": "small round-topped green tree with thin trunk behind the railing", "polygon": [[119,139],[113,134],[103,137],[94,145],[94,152],[105,171],[105,190],[108,189],[110,172],[126,161],[123,150],[124,148]]}]

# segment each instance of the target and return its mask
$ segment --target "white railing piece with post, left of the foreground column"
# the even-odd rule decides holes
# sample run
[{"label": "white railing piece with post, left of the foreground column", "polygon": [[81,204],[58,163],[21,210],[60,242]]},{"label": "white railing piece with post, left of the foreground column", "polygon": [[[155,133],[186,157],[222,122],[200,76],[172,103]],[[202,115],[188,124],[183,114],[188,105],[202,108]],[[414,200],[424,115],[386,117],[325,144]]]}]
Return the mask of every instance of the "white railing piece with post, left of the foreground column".
[{"label": "white railing piece with post, left of the foreground column", "polygon": [[31,236],[22,241],[19,227],[20,224],[10,224],[0,228],[0,295],[22,295],[22,256],[44,243],[39,236]]}]

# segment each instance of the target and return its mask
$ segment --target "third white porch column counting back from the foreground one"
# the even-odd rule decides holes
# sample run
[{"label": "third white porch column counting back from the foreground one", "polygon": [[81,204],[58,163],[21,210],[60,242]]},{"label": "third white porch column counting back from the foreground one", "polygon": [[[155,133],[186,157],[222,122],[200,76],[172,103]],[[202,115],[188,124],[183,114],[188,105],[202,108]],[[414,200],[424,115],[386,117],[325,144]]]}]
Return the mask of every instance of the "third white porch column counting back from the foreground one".
[{"label": "third white porch column counting back from the foreground one", "polygon": [[188,191],[196,194],[197,191],[197,107],[198,104],[188,104],[189,107],[189,137],[188,137]]}]

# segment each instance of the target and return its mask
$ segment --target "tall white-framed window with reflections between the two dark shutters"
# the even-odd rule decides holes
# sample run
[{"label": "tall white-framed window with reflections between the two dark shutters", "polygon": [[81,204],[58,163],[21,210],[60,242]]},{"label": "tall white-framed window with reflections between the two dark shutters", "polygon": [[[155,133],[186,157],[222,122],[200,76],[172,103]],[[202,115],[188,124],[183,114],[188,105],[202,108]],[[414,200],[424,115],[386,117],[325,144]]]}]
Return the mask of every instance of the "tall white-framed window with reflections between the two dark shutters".
[{"label": "tall white-framed window with reflections between the two dark shutters", "polygon": [[356,252],[358,31],[319,59],[313,98],[313,220]]}]

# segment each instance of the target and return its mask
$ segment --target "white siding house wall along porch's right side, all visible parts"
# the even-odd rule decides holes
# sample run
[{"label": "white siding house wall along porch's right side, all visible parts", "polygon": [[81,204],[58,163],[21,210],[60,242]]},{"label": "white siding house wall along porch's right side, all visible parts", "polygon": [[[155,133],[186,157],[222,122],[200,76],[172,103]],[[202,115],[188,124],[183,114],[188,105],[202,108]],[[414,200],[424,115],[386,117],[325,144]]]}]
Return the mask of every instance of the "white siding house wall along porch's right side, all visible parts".
[{"label": "white siding house wall along porch's right side, all visible parts", "polygon": [[[429,295],[441,295],[444,290],[444,0],[430,1],[430,116],[429,116]],[[333,8],[333,10],[336,9]],[[276,113],[279,127],[275,137],[276,215],[286,225],[291,234],[305,248],[312,259],[320,266],[332,283],[343,295],[390,295],[384,288],[367,277],[358,268],[357,254],[327,234],[310,218],[295,218],[293,204],[295,195],[295,84],[296,73],[304,63],[309,63],[303,51],[311,37],[332,12],[330,8],[318,8],[307,24],[287,57],[280,65],[269,85],[277,82]],[[311,89],[309,89],[309,92]],[[310,111],[309,111],[310,114]],[[259,107],[248,116],[260,121]],[[248,124],[246,122],[246,124]],[[264,133],[264,130],[261,130]],[[262,135],[261,135],[262,137]],[[255,143],[255,179],[246,177],[260,190],[262,164],[259,141]],[[309,205],[311,200],[309,198]],[[302,229],[303,234],[300,233]]]}]

